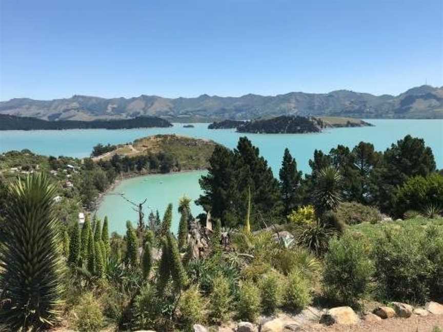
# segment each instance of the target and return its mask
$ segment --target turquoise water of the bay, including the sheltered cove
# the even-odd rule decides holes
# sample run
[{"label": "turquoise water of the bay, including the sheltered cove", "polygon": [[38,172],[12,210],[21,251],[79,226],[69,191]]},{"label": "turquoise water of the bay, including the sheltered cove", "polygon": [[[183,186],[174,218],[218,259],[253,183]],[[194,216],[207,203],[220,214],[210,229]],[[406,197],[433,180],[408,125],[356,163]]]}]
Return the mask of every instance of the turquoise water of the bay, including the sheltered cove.
[{"label": "turquoise water of the bay, including the sheltered cove", "polygon": [[[337,128],[320,134],[240,134],[234,130],[209,130],[207,123],[195,123],[194,128],[183,128],[176,123],[170,128],[133,129],[133,130],[63,130],[63,131],[7,131],[0,132],[0,152],[29,149],[44,155],[65,155],[86,157],[97,143],[124,143],[136,138],[170,134],[187,135],[196,138],[209,138],[228,148],[235,148],[238,138],[248,136],[260,149],[271,166],[274,176],[278,175],[281,158],[287,147],[297,160],[298,168],[309,172],[308,160],[315,149],[329,152],[337,144],[350,148],[360,141],[374,144],[377,150],[385,150],[391,143],[407,134],[422,137],[434,152],[438,168],[443,168],[443,120],[368,120],[375,127]],[[133,201],[143,201],[158,209],[160,215],[169,202],[174,204],[174,225],[178,222],[176,206],[178,199],[186,194],[198,198],[200,188],[198,178],[204,172],[189,172],[172,175],[152,175],[125,180],[116,186],[114,193],[122,193]],[[201,212],[192,204],[194,215]],[[149,209],[146,209],[146,214]],[[123,233],[126,220],[136,221],[137,215],[121,197],[108,195],[100,205],[98,216],[108,215],[111,231]]]}]

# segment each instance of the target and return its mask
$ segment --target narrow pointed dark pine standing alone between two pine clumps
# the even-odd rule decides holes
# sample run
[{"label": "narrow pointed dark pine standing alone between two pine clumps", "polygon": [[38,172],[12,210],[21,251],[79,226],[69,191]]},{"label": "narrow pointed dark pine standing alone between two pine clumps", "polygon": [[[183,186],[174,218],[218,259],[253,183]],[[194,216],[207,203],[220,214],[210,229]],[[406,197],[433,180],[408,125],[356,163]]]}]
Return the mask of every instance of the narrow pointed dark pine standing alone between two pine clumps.
[{"label": "narrow pointed dark pine standing alone between two pine clumps", "polygon": [[284,214],[289,215],[297,205],[297,189],[301,180],[301,171],[297,171],[297,162],[288,148],[285,149],[279,172],[280,192],[283,198]]}]

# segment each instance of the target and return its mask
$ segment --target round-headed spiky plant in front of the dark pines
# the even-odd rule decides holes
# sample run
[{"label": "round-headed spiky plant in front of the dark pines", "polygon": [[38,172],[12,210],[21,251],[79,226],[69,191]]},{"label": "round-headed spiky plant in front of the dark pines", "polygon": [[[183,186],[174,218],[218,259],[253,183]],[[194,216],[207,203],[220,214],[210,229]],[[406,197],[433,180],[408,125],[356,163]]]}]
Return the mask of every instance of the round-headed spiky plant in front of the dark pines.
[{"label": "round-headed spiky plant in front of the dark pines", "polygon": [[315,212],[319,217],[323,216],[326,211],[335,210],[341,202],[340,182],[340,172],[333,167],[325,167],[318,173],[313,201]]}]

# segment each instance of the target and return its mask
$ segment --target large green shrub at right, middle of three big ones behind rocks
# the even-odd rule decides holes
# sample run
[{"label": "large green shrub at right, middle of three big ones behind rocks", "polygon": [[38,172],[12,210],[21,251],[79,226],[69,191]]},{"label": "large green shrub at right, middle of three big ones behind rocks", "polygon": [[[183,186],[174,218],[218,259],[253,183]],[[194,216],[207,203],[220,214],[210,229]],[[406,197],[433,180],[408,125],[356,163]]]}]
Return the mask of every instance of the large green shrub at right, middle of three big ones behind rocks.
[{"label": "large green shrub at right, middle of three big ones behind rocks", "polygon": [[432,263],[416,230],[385,230],[374,246],[375,276],[381,296],[424,303],[429,297]]}]

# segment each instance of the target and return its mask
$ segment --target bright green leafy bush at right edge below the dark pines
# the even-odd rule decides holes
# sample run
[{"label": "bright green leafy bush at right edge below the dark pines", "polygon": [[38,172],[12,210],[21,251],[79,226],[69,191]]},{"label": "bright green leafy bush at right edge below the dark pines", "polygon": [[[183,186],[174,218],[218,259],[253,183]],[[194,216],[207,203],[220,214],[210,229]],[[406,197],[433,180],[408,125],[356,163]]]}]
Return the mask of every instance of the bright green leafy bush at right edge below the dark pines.
[{"label": "bright green leafy bush at right edge below the dark pines", "polygon": [[411,209],[423,211],[429,205],[443,207],[443,176],[432,173],[407,179],[398,190],[395,201],[399,216]]}]

